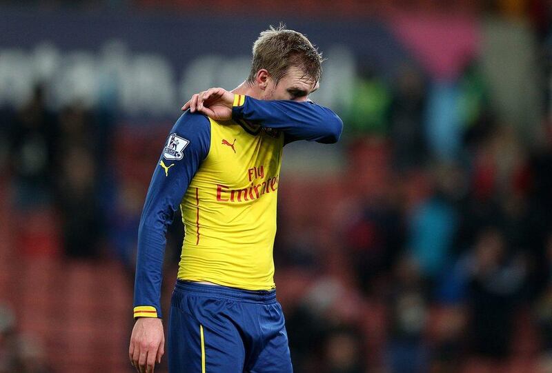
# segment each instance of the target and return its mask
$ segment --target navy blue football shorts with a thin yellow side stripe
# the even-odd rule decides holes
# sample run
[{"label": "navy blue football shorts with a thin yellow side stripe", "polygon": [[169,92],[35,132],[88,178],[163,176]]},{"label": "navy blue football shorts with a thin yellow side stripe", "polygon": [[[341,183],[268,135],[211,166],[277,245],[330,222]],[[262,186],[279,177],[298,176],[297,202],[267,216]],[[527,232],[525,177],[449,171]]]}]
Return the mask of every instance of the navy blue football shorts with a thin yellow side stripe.
[{"label": "navy blue football shorts with a thin yellow side stripe", "polygon": [[177,281],[167,352],[170,373],[293,372],[275,290]]}]

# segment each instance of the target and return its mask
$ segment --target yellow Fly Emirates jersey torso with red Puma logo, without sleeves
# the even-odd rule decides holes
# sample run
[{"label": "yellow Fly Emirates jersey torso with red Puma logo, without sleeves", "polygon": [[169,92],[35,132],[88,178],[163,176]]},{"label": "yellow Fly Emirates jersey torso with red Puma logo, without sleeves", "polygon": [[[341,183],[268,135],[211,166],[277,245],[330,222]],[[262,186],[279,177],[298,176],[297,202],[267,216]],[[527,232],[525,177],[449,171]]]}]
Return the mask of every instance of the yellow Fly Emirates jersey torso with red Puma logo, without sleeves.
[{"label": "yellow Fly Emirates jersey torso with red Puma logo, without sleeves", "polygon": [[274,288],[273,243],[284,135],[210,119],[210,148],[180,205],[178,278]]}]

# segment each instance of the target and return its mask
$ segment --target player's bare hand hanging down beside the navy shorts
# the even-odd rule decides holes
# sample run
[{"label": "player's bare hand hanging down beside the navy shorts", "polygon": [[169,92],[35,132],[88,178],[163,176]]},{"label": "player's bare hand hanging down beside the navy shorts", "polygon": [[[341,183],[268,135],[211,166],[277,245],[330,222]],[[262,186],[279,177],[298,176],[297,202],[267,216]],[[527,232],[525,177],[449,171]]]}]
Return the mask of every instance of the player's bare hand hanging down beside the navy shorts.
[{"label": "player's bare hand hanging down beside the navy shorts", "polygon": [[130,363],[140,373],[153,373],[155,362],[161,363],[165,353],[163,323],[157,317],[137,319],[130,336],[128,356]]}]

